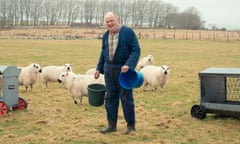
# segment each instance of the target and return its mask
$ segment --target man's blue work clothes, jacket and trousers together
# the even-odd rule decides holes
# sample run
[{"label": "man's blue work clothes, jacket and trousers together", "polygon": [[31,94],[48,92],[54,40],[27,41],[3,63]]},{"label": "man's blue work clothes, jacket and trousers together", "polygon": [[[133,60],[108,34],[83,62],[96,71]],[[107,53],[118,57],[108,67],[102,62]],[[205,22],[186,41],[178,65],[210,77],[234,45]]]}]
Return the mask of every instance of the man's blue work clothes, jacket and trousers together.
[{"label": "man's blue work clothes, jacket and trousers together", "polygon": [[121,26],[115,54],[112,61],[109,61],[108,36],[109,31],[106,31],[103,35],[102,51],[97,64],[97,70],[105,76],[107,119],[109,122],[117,123],[120,98],[127,126],[135,127],[133,91],[122,88],[118,78],[123,65],[135,69],[140,57],[140,46],[134,31],[129,27]]}]

